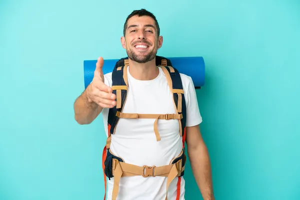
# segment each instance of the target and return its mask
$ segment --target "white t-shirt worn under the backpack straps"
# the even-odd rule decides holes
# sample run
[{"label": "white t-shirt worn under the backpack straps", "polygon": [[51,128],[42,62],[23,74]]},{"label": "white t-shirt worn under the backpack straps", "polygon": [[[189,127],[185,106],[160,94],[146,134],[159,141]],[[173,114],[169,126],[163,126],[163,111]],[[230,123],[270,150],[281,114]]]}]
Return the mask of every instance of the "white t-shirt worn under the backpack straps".
[{"label": "white t-shirt worn under the backpack straps", "polygon": [[[128,67],[129,68],[129,67]],[[175,113],[173,97],[165,75],[159,67],[159,74],[152,80],[137,80],[127,69],[128,90],[123,108],[124,113],[165,114]],[[202,121],[192,79],[181,74],[186,102],[186,126]],[[111,72],[104,74],[105,84],[111,86]],[[104,128],[107,134],[108,108],[102,110]],[[111,135],[110,150],[126,163],[135,165],[167,165],[182,150],[177,119],[158,119],[157,127],[161,140],[156,141],[153,124],[155,119],[120,118],[115,133]],[[184,199],[184,176],[181,176],[180,200]],[[177,179],[168,188],[168,199],[176,199]],[[116,199],[121,200],[164,200],[167,177],[124,176],[120,178]],[[113,178],[107,179],[107,199],[111,199]]]}]

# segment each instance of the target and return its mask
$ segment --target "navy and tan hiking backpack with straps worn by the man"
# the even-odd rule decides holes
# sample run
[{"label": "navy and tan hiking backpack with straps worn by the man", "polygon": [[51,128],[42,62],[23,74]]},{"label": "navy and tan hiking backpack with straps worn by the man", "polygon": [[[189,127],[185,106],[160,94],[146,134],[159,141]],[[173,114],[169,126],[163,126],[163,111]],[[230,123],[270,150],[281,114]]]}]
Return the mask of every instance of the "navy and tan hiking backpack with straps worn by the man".
[{"label": "navy and tan hiking backpack with straps worn by the man", "polygon": [[[180,194],[180,180],[181,176],[184,174],[184,166],[186,156],[184,153],[184,142],[185,142],[185,121],[186,121],[186,106],[184,99],[184,91],[182,87],[182,81],[179,71],[174,68],[171,61],[162,56],[156,56],[156,65],[161,67],[166,79],[170,91],[173,93],[173,100],[176,113],[165,113],[165,114],[139,114],[139,113],[123,113],[124,103],[126,101],[127,94],[127,67],[128,67],[128,57],[119,59],[112,71],[112,93],[116,95],[116,105],[109,108],[108,120],[107,120],[107,130],[108,137],[106,140],[106,145],[103,149],[102,154],[102,167],[104,174],[104,185],[105,194],[104,200],[106,198],[106,176],[110,179],[114,177],[114,186],[112,189],[112,200],[116,199],[118,193],[118,183],[121,176],[132,176],[141,175],[143,177],[147,176],[166,176],[166,197],[167,199],[167,189],[169,183],[178,177],[177,182],[177,198]],[[113,154],[110,150],[111,135],[115,132],[115,127],[120,118],[155,118],[153,128],[156,136],[156,140],[160,140],[159,132],[157,129],[157,120],[179,120],[179,134],[182,136],[183,148],[181,153],[170,161],[170,164],[164,166],[136,166],[129,163],[125,163],[124,160]]]}]

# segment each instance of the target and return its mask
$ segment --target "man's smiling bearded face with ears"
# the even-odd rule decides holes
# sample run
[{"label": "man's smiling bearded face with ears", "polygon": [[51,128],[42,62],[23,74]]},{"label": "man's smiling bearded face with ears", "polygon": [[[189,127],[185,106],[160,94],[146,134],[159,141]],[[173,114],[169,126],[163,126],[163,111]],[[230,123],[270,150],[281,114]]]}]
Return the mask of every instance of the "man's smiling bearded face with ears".
[{"label": "man's smiling bearded face with ears", "polygon": [[162,45],[162,36],[157,35],[152,17],[134,15],[127,21],[125,36],[121,37],[121,43],[131,60],[145,63],[155,58],[157,48]]}]

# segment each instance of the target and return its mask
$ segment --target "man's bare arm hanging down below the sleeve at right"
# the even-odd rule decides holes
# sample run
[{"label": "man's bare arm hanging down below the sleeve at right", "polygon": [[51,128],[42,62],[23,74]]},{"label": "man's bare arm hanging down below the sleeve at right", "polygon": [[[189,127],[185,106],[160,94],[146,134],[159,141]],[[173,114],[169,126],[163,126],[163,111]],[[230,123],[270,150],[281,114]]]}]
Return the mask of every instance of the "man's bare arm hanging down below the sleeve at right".
[{"label": "man's bare arm hanging down below the sleeve at right", "polygon": [[204,200],[214,200],[210,159],[199,125],[186,127],[187,153],[192,173]]}]

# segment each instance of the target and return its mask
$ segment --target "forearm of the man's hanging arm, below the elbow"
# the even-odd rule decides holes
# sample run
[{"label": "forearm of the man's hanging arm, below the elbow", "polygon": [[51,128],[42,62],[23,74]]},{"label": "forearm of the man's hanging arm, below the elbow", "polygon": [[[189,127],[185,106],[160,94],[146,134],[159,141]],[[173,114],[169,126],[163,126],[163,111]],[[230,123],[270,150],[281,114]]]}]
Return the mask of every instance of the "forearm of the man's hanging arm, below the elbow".
[{"label": "forearm of the man's hanging arm, below the elbow", "polygon": [[188,148],[192,173],[201,191],[204,200],[213,200],[211,167],[206,145],[203,143],[193,148]]}]

